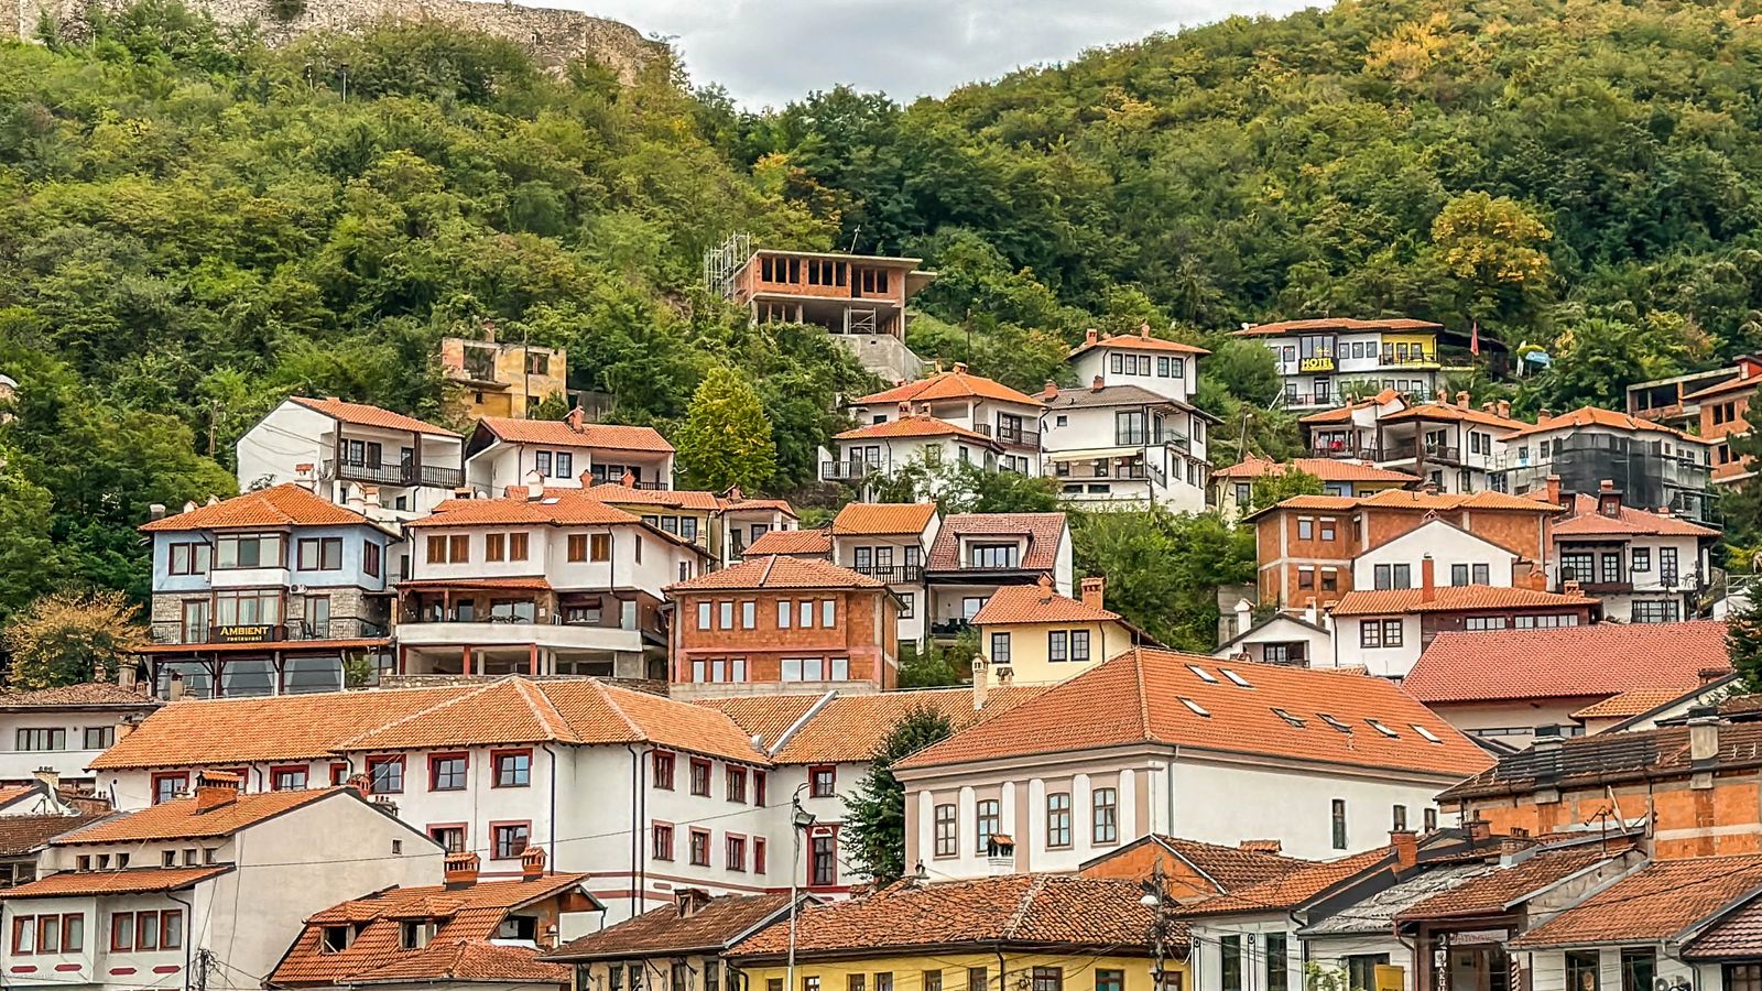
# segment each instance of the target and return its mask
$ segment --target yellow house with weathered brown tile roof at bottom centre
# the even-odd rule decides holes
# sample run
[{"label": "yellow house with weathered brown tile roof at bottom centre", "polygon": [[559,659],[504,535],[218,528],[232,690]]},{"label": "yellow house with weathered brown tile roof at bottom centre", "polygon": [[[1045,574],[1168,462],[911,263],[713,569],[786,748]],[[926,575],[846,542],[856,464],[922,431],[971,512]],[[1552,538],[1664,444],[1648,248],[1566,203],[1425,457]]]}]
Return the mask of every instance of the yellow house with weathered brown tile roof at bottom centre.
[{"label": "yellow house with weathered brown tile roof at bottom centre", "polygon": [[[1077,875],[893,883],[812,905],[728,950],[745,991],[1156,991],[1158,910],[1136,882]],[[1186,987],[1186,929],[1163,919],[1163,987]]]}]

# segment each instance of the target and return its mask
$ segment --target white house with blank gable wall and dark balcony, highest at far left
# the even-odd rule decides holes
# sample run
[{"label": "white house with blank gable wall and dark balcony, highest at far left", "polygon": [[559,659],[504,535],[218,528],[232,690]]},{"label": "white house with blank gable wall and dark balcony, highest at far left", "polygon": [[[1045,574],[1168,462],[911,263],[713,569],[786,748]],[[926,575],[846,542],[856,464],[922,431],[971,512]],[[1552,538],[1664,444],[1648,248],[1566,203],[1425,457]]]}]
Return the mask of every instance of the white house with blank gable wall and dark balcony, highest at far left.
[{"label": "white house with blank gable wall and dark balcony, highest at far left", "polygon": [[463,437],[402,413],[337,397],[287,397],[238,439],[238,487],[310,481],[338,504],[375,488],[381,511],[409,520],[465,483]]}]

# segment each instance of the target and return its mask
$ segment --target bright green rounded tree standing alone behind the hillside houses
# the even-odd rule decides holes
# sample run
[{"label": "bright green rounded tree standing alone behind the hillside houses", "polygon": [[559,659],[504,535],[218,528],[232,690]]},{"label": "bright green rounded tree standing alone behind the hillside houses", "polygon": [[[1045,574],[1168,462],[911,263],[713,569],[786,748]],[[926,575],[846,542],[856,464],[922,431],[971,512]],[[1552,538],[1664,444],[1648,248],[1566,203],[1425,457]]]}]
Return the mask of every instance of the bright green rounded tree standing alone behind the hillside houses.
[{"label": "bright green rounded tree standing alone behind the hillside houses", "polygon": [[777,471],[777,443],[758,390],[733,369],[715,369],[691,397],[678,432],[678,466],[692,487],[759,492]]}]

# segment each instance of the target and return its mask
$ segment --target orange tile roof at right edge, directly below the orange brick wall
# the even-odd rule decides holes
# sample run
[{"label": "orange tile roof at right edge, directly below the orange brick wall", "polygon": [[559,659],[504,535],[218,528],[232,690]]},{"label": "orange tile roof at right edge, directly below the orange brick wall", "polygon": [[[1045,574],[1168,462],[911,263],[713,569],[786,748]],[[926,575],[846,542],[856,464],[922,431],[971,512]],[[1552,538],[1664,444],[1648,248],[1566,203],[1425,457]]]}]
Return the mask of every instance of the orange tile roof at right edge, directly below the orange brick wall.
[{"label": "orange tile roof at right edge, directly below the orange brick wall", "polygon": [[1757,892],[1762,853],[1655,861],[1508,945],[1662,943]]}]

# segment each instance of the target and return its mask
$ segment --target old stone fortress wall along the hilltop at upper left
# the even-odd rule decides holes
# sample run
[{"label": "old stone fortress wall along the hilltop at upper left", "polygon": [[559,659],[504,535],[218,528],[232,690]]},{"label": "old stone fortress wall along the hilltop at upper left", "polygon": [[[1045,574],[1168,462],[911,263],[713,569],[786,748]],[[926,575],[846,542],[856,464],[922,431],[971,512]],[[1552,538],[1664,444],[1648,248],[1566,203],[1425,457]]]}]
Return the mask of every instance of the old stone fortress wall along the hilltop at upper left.
[{"label": "old stone fortress wall along the hilltop at upper left", "polygon": [[[132,0],[5,0],[9,11],[0,32],[32,39],[41,16],[48,14],[69,37],[85,30],[86,11],[118,11]],[[629,85],[655,56],[659,42],[636,28],[592,18],[578,11],[522,7],[509,2],[474,0],[305,0],[301,12],[278,19],[270,0],[185,0],[192,9],[208,11],[226,26],[255,25],[263,39],[275,44],[317,30],[361,30],[374,23],[439,23],[504,37],[527,48],[546,69],[559,69],[578,56],[590,56],[617,72]]]}]

